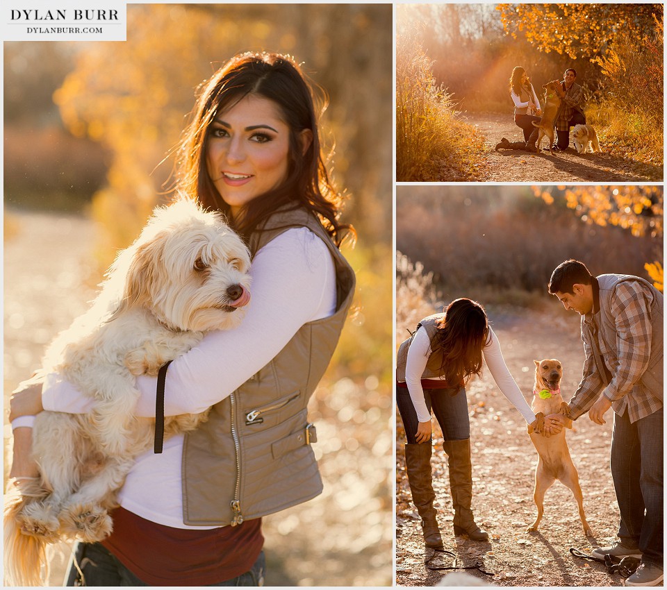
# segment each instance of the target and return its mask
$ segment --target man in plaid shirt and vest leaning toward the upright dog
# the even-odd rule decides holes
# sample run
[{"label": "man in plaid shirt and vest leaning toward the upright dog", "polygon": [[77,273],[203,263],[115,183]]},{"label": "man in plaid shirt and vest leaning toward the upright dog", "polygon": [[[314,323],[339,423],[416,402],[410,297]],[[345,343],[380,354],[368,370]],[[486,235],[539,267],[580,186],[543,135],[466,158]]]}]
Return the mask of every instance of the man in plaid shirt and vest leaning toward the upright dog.
[{"label": "man in plaid shirt and vest leaning toward the upright dog", "polygon": [[[588,411],[593,422],[604,424],[605,412],[614,408],[611,476],[620,542],[593,555],[641,557],[625,585],[656,586],[663,580],[663,296],[636,276],[593,277],[577,260],[559,264],[549,292],[582,316],[586,361],[570,417]],[[564,419],[552,414],[545,423],[559,432]]]}]

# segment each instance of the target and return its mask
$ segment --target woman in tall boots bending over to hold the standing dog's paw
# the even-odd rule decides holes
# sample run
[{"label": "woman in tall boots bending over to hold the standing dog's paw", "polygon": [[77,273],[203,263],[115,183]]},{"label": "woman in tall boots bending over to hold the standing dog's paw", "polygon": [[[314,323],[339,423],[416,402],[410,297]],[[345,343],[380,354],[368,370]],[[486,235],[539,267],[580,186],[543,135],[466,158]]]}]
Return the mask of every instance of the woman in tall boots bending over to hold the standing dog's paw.
[{"label": "woman in tall boots bending over to hold the standing dog's paw", "polygon": [[479,376],[482,357],[502,394],[535,424],[502,358],[497,336],[488,325],[484,307],[467,298],[456,299],[443,313],[422,319],[405,340],[397,359],[397,406],[407,443],[405,465],[428,547],[443,544],[436,519],[436,494],[431,479],[431,410],[443,432],[450,489],[454,505],[454,534],[486,541],[488,534],[472,514],[472,461],[466,382]]}]

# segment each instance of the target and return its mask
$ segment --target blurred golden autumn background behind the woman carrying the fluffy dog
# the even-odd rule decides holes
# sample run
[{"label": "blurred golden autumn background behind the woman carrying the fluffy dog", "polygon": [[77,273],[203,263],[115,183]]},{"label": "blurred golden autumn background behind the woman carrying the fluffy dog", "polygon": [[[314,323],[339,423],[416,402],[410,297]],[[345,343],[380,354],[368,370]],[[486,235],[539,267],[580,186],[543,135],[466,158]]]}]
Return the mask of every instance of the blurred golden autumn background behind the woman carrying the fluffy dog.
[{"label": "blurred golden autumn background behind the woman carrying the fluffy dog", "polygon": [[[311,407],[324,494],[265,519],[266,583],[390,584],[392,8],[155,4],[127,17],[126,42],[4,44],[5,398],[165,199],[195,87],[240,51],[290,53],[329,94],[322,140],[350,196],[359,286]],[[7,425],[5,439],[7,467]]]}]

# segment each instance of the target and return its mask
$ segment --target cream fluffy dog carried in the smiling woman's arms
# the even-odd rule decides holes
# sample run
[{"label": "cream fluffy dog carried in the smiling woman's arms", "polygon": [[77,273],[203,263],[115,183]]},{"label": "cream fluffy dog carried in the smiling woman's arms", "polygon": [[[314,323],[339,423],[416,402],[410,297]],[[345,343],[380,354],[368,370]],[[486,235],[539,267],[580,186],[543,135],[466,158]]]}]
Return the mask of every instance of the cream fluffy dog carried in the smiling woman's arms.
[{"label": "cream fluffy dog carried in the smiling woman's arms", "polygon": [[[154,420],[133,416],[135,376],[155,376],[208,330],[234,328],[249,303],[249,251],[220,214],[181,199],[157,208],[118,255],[90,310],[60,334],[44,360],[94,399],[90,414],[41,412],[33,428],[40,478],[6,498],[5,571],[41,585],[47,543],[94,542],[112,529],[108,509],[151,448]],[[165,418],[165,436],[208,412]]]}]

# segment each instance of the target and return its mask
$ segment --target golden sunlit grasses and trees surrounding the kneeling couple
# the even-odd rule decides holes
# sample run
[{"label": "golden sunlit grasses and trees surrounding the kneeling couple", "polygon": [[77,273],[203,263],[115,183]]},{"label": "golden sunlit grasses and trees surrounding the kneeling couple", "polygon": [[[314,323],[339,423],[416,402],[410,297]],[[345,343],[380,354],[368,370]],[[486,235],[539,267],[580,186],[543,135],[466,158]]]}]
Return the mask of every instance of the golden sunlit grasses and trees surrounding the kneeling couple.
[{"label": "golden sunlit grasses and trees surrounding the kneeling couple", "polygon": [[574,67],[604,153],[661,180],[663,17],[648,3],[397,5],[397,180],[484,180],[471,123],[502,113],[513,125],[515,66],[540,101],[541,86]]}]

